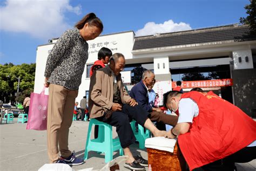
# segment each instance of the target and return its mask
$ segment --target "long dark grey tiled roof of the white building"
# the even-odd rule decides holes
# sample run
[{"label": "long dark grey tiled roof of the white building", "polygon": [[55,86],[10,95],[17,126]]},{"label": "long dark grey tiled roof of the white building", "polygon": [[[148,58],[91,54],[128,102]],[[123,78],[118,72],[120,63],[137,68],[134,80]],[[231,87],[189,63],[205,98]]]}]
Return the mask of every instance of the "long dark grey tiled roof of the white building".
[{"label": "long dark grey tiled roof of the white building", "polygon": [[[226,40],[246,41],[250,28],[246,25],[227,25],[216,28],[189,30],[172,33],[162,33],[151,36],[135,37],[133,50],[151,49],[157,47],[220,42]],[[256,39],[255,37],[253,38]]]}]

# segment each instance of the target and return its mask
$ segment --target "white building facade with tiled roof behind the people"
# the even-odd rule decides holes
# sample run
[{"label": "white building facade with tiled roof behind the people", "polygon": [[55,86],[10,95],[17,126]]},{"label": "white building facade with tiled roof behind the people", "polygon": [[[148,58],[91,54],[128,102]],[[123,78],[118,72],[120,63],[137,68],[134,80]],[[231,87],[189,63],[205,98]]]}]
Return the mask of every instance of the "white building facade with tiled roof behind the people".
[{"label": "white building facade with tiled roof behind the people", "polygon": [[[42,91],[46,60],[55,42],[56,39],[52,39],[49,44],[37,48],[34,88],[37,93]],[[183,80],[185,91],[193,86],[213,90],[247,114],[256,108],[256,38],[250,36],[250,28],[246,25],[142,37],[126,31],[99,36],[88,43],[89,58],[76,101],[89,93],[90,67],[97,60],[99,49],[108,47],[113,53],[124,54],[126,66],[122,77],[129,89],[138,82],[145,68],[156,74],[157,81]],[[211,80],[212,84],[205,80]],[[231,83],[227,84],[227,80]],[[199,84],[190,81],[199,81]]]}]

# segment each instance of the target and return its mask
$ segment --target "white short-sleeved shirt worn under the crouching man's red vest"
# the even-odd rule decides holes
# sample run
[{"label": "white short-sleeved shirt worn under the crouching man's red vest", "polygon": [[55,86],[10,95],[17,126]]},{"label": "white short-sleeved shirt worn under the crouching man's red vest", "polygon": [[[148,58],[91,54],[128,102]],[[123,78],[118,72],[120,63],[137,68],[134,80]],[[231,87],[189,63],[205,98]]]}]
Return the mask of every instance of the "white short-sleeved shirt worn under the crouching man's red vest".
[{"label": "white short-sleeved shirt worn under the crouching man's red vest", "polygon": [[[179,101],[179,118],[178,123],[183,122],[193,122],[193,118],[197,117],[199,113],[199,108],[196,102],[194,102],[190,98],[184,98]],[[253,141],[250,145],[247,147],[254,147],[256,146],[256,141]]]}]

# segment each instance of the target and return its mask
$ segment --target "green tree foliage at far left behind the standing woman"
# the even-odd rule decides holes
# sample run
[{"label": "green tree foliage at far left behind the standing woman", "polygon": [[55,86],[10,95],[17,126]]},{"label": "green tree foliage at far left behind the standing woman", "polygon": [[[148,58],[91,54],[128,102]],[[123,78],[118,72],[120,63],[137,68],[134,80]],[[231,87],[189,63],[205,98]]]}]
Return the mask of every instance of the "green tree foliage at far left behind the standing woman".
[{"label": "green tree foliage at far left behind the standing woman", "polygon": [[[16,100],[22,103],[24,95],[33,91],[35,71],[36,64],[0,64],[0,100],[4,103],[11,101],[13,104]],[[18,77],[20,77],[19,94],[16,99]]]}]

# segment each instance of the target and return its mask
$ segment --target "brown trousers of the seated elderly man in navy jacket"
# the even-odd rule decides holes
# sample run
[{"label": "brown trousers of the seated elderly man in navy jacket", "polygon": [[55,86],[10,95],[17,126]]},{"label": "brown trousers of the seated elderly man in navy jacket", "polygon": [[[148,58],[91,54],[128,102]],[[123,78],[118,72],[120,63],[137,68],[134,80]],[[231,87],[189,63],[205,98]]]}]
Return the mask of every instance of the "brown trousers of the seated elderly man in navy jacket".
[{"label": "brown trousers of the seated elderly man in navy jacket", "polygon": [[161,124],[167,124],[171,126],[176,126],[178,122],[177,116],[165,114],[164,112],[153,111],[150,113],[149,118],[153,122],[160,122]]}]

